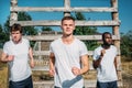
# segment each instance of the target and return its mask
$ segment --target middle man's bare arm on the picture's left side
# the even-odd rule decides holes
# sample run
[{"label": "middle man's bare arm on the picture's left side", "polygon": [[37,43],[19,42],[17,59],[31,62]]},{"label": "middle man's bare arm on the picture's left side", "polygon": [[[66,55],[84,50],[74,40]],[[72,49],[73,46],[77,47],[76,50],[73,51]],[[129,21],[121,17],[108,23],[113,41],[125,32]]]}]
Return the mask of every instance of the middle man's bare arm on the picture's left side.
[{"label": "middle man's bare arm on the picture's left side", "polygon": [[55,55],[54,53],[50,54],[50,75],[54,76],[55,74]]}]

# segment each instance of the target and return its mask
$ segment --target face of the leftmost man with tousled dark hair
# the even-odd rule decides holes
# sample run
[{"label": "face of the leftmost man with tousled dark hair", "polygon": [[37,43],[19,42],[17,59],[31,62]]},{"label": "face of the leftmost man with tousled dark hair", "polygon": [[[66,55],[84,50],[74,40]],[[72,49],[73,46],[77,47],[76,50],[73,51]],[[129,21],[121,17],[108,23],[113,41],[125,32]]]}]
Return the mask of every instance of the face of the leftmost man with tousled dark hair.
[{"label": "face of the leftmost man with tousled dark hair", "polygon": [[20,33],[20,31],[12,31],[11,37],[14,43],[19,43],[22,38],[22,34]]}]

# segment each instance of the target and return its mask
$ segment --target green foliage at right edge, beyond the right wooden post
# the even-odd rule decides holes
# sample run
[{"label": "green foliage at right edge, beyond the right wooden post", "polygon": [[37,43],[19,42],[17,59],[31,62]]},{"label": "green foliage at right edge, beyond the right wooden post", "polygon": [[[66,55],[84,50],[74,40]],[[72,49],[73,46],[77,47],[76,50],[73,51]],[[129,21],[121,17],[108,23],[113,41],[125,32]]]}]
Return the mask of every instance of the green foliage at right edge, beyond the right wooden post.
[{"label": "green foliage at right edge, beyond the right wooden post", "polygon": [[132,31],[121,34],[121,55],[132,59]]}]

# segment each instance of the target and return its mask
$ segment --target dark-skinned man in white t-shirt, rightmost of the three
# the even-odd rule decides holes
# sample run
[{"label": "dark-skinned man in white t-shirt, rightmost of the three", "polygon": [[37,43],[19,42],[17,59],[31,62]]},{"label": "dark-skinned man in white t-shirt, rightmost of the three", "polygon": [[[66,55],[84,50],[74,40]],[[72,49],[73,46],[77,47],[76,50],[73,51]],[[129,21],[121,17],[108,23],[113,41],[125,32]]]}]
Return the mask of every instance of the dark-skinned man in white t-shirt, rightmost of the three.
[{"label": "dark-skinned man in white t-shirt, rightmost of the three", "polygon": [[97,88],[118,88],[117,47],[109,32],[102,34],[103,44],[94,52],[94,67],[97,69]]}]

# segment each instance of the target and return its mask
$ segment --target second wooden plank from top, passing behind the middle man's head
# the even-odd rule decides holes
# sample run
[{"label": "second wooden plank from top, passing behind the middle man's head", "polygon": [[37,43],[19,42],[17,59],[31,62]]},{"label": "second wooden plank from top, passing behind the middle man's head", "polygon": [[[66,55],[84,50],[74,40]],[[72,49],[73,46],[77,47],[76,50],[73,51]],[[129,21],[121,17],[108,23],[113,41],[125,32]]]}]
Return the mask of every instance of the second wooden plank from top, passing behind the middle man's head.
[{"label": "second wooden plank from top, passing behind the middle man's head", "polygon": [[[120,21],[75,21],[78,26],[113,26],[120,25]],[[10,26],[14,23],[19,23],[22,26],[59,26],[61,21],[10,21]]]}]

